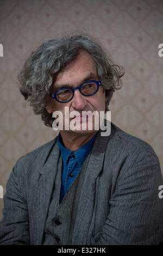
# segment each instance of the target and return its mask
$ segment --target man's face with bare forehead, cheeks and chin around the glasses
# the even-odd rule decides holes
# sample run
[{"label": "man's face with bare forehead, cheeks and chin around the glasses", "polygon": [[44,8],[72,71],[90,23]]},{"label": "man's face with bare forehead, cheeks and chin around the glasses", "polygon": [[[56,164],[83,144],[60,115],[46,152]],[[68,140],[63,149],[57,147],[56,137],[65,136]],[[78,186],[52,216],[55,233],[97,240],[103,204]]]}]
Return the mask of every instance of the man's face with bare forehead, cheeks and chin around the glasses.
[{"label": "man's face with bare forehead, cheeks and chin around the glasses", "polygon": [[[72,60],[67,66],[58,74],[54,83],[54,92],[64,87],[78,87],[80,84],[89,80],[99,80],[96,65],[93,62],[89,53],[81,51],[78,57]],[[79,90],[74,91],[73,99],[66,103],[58,102],[55,99],[50,99],[47,104],[47,112],[53,113],[54,111],[61,111],[65,120],[65,107],[69,108],[69,113],[72,111],[78,111],[81,115],[83,111],[105,111],[105,90],[102,86],[99,87],[98,92],[92,96],[84,96]],[[71,123],[73,118],[69,118]],[[80,123],[80,131],[70,129],[69,132],[75,133],[91,133],[91,130],[87,129],[87,119],[83,117],[76,117],[77,123]],[[95,130],[95,119],[93,118],[92,130]],[[74,121],[74,119],[73,119]],[[86,124],[86,130],[82,130],[82,122]],[[65,123],[65,121],[64,121]],[[62,131],[67,132],[67,131]]]}]

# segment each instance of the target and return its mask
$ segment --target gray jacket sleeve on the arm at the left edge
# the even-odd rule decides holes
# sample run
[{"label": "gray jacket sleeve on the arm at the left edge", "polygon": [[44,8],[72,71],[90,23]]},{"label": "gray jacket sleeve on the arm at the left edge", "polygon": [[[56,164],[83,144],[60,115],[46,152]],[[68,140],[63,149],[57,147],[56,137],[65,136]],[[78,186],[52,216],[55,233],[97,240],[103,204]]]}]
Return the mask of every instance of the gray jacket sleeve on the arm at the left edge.
[{"label": "gray jacket sleeve on the arm at the left edge", "polygon": [[22,170],[17,166],[12,169],[4,195],[0,245],[29,245],[27,201],[23,194]]}]

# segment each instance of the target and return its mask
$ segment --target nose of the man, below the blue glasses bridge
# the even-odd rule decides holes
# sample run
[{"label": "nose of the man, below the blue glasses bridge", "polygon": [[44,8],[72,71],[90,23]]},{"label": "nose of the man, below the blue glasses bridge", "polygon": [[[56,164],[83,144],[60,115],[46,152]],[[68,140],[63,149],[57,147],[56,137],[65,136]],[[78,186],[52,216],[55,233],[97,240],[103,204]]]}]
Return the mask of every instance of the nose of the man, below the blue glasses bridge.
[{"label": "nose of the man, below the blue glasses bridge", "polygon": [[74,91],[74,96],[72,99],[72,107],[74,109],[84,109],[87,104],[86,96],[82,95],[79,90]]}]

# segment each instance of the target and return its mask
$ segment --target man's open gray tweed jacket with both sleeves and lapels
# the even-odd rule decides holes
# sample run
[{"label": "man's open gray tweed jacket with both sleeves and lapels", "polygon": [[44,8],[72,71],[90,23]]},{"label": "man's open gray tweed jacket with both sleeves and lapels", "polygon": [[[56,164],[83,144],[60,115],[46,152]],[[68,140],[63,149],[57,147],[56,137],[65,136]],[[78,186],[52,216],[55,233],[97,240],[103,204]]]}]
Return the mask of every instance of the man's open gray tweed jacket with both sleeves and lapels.
[{"label": "man's open gray tweed jacket with both sleeves and lapels", "polygon": [[[43,244],[57,186],[60,150],[56,141],[21,157],[12,169],[0,223],[1,245]],[[66,244],[71,235],[72,245],[158,245],[163,233],[163,199],[158,188],[163,180],[152,147],[111,123],[110,136],[98,133],[86,162],[76,188],[78,200],[73,199],[73,229],[71,234],[65,229],[58,244]],[[75,182],[65,196],[66,204]]]}]

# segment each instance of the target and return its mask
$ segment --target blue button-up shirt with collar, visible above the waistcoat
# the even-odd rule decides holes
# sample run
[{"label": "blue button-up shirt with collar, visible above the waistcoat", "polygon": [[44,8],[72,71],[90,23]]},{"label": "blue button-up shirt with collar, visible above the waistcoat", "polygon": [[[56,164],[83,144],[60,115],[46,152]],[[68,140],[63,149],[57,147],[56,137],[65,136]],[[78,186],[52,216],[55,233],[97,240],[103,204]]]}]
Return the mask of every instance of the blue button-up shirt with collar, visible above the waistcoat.
[{"label": "blue button-up shirt with collar, visible above the waistcoat", "polygon": [[64,198],[68,188],[70,188],[72,182],[76,178],[79,173],[80,168],[83,166],[83,163],[86,157],[89,155],[95,139],[97,137],[97,133],[84,144],[80,149],[73,152],[69,149],[66,149],[64,143],[62,141],[61,135],[59,133],[57,142],[61,151],[61,156],[63,160],[62,164],[62,178],[61,178],[61,190],[60,190],[60,203]]}]

